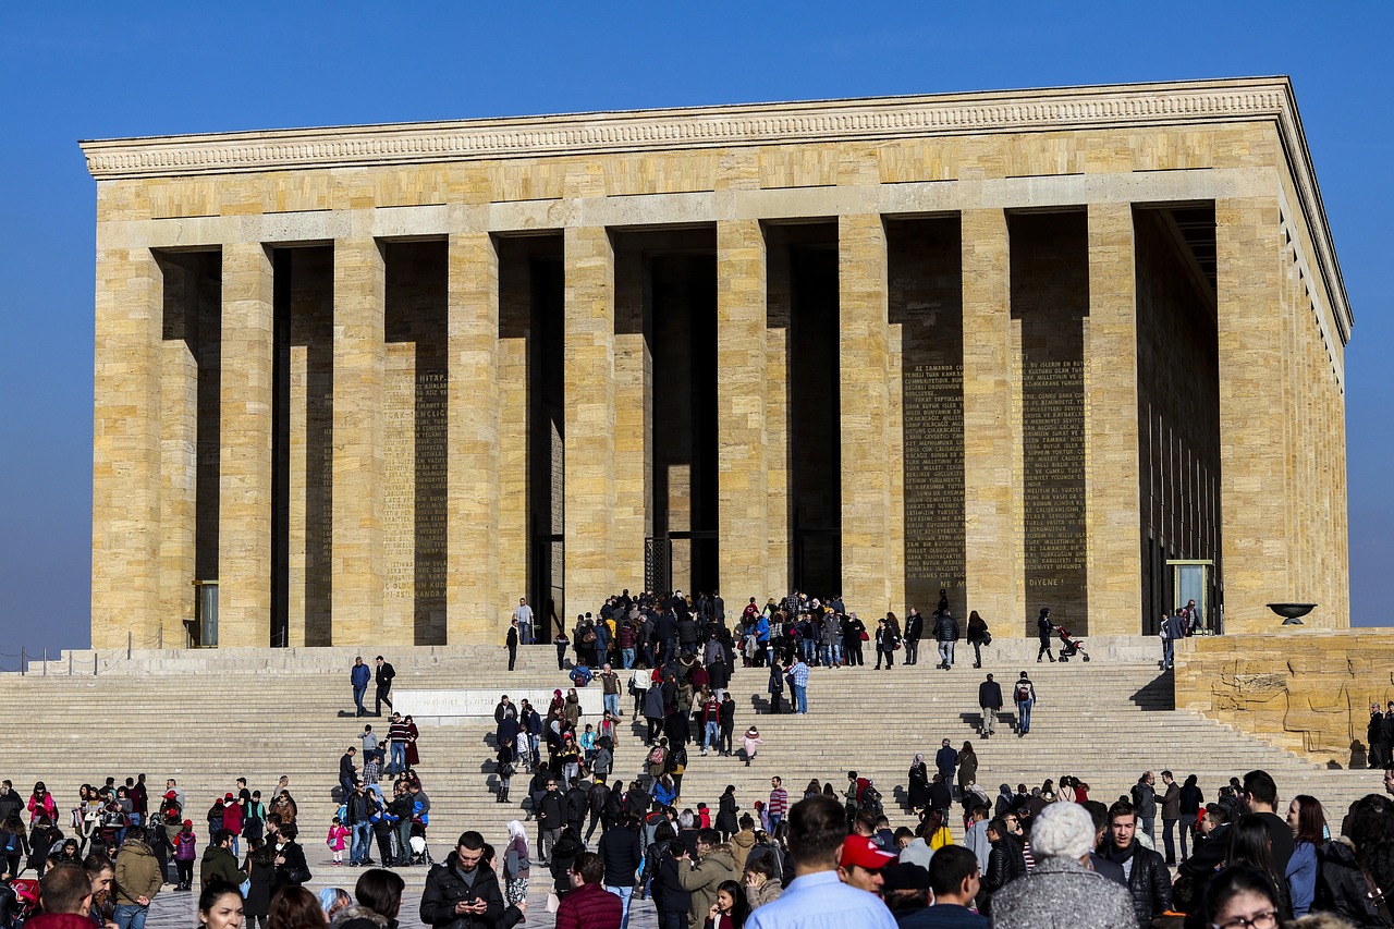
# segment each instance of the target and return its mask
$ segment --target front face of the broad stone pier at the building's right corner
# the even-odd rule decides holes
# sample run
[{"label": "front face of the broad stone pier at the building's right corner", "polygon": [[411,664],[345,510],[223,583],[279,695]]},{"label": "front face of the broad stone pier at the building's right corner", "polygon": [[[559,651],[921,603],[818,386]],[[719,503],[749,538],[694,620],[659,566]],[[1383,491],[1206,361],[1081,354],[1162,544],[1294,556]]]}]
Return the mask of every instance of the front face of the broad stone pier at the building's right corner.
[{"label": "front face of the broad stone pier at the building's right corner", "polygon": [[1282,339],[1282,226],[1277,197],[1216,201],[1220,343],[1220,523],[1225,632],[1271,629],[1288,600],[1287,417],[1274,388]]}]

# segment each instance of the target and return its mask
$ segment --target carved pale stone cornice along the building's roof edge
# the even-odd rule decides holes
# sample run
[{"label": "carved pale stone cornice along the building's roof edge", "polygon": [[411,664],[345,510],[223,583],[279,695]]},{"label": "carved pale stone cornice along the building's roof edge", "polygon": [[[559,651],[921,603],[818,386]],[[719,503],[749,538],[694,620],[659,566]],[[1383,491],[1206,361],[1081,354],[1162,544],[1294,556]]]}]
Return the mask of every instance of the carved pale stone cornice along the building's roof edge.
[{"label": "carved pale stone cornice along the building's roof edge", "polygon": [[1273,120],[1342,342],[1351,312],[1284,77],[399,123],[82,142],[98,180]]}]

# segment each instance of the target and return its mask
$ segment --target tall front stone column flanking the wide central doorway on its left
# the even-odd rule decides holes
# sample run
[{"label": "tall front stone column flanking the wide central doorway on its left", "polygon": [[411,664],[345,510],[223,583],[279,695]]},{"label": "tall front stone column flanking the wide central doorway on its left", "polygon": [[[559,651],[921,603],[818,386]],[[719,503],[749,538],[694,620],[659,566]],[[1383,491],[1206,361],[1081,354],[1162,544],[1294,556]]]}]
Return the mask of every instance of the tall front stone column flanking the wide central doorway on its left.
[{"label": "tall front stone column flanking the wide central doorway on its left", "polygon": [[604,227],[565,234],[566,612],[595,612],[615,593],[615,248]]}]

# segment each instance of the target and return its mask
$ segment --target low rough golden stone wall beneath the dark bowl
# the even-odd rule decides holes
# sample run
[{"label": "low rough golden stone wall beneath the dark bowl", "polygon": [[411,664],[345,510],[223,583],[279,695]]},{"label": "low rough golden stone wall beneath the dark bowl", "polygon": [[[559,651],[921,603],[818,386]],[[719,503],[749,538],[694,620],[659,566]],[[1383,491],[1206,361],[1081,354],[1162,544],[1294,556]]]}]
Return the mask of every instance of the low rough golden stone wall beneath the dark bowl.
[{"label": "low rough golden stone wall beneath the dark bowl", "polygon": [[1394,629],[1305,629],[1188,639],[1177,709],[1341,767],[1363,767],[1370,703],[1394,700]]}]

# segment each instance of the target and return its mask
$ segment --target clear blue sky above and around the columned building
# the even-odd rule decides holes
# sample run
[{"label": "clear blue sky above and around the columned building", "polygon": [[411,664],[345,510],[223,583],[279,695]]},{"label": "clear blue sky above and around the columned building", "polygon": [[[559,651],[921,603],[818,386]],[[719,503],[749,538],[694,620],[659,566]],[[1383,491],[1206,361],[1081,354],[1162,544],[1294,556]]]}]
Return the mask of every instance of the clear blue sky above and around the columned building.
[{"label": "clear blue sky above and around the columned building", "polygon": [[0,4],[0,668],[88,644],[79,138],[1256,74],[1292,75],[1355,311],[1352,617],[1386,625],[1391,40],[1387,1]]}]

